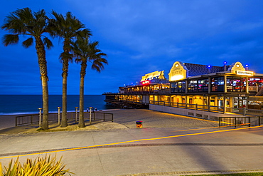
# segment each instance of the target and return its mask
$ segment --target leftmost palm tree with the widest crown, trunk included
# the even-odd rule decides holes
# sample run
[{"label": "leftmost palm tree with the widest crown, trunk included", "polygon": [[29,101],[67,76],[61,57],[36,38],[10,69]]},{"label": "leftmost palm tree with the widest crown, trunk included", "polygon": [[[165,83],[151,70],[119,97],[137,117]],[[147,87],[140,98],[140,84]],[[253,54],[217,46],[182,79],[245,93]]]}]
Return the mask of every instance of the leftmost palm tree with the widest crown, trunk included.
[{"label": "leftmost palm tree with the widest crown, trunk included", "polygon": [[44,36],[48,32],[48,17],[44,10],[33,12],[29,8],[17,9],[6,16],[1,29],[12,33],[4,35],[5,46],[18,43],[20,35],[29,37],[22,43],[25,48],[32,46],[35,39],[43,92],[43,123],[41,127],[48,129],[48,70],[45,47],[49,49],[53,46],[52,42]]}]

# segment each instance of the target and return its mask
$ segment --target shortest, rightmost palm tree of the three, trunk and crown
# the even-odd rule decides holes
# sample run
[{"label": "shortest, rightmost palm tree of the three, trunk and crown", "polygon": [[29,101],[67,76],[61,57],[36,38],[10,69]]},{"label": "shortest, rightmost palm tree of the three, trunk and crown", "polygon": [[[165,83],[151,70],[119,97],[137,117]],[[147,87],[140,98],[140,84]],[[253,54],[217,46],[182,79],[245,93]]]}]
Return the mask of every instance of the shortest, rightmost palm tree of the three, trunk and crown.
[{"label": "shortest, rightmost palm tree of the three, trunk and crown", "polygon": [[88,38],[82,38],[75,42],[74,54],[75,61],[81,64],[80,69],[80,120],[79,127],[84,128],[84,78],[86,75],[87,62],[90,62],[92,70],[102,71],[104,63],[108,64],[108,61],[103,56],[107,56],[106,53],[102,53],[97,48],[99,42],[95,41],[90,43]]}]

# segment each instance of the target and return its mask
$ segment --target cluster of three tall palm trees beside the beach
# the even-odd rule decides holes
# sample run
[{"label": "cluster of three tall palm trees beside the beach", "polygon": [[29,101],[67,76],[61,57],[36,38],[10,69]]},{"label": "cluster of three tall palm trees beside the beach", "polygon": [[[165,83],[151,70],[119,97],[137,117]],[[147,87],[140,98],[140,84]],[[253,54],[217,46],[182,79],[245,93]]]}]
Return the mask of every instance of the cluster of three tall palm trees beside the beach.
[{"label": "cluster of three tall palm trees beside the beach", "polygon": [[43,123],[41,128],[48,129],[48,69],[45,58],[45,49],[53,47],[51,38],[60,38],[63,40],[63,53],[59,58],[63,63],[63,113],[61,127],[66,127],[67,122],[67,78],[68,66],[70,62],[75,60],[81,64],[80,70],[80,117],[79,127],[85,127],[84,123],[84,78],[86,74],[87,63],[91,63],[91,68],[95,71],[102,71],[107,60],[98,49],[98,42],[90,41],[91,31],[85,29],[82,24],[73,14],[66,13],[65,16],[52,11],[51,17],[48,17],[45,10],[33,12],[29,8],[17,9],[6,16],[1,29],[9,31],[11,34],[6,34],[3,37],[5,46],[18,43],[19,36],[28,36],[23,41],[22,45],[25,48],[33,45],[35,41],[36,53],[38,56],[38,66],[41,73],[42,93],[43,93]]}]

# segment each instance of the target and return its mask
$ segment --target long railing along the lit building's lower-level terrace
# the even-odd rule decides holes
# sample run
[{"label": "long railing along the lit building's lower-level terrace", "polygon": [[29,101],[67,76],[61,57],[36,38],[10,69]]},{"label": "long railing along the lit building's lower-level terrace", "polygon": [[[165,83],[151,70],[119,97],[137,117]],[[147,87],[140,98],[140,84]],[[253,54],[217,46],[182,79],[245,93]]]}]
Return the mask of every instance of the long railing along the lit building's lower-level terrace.
[{"label": "long railing along the lit building's lower-level terrace", "polygon": [[229,108],[222,106],[215,106],[215,105],[198,105],[198,104],[189,104],[189,103],[171,103],[167,101],[154,101],[150,100],[150,104],[152,105],[163,105],[175,108],[186,108],[186,109],[193,109],[193,110],[205,110],[209,112],[215,113],[236,113],[240,115],[263,115],[263,110],[254,110],[254,109],[247,109],[247,108]]}]

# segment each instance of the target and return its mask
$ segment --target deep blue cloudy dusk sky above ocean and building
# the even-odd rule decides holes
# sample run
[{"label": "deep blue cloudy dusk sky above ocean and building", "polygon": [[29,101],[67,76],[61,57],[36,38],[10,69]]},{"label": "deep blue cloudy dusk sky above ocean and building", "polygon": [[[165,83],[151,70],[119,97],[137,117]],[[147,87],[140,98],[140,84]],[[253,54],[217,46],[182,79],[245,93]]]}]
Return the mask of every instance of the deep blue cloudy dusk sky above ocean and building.
[{"label": "deep blue cloudy dusk sky above ocean and building", "polygon": [[[141,76],[164,71],[175,61],[212,66],[240,61],[263,73],[262,0],[9,0],[1,1],[0,22],[16,9],[71,11],[92,31],[107,53],[108,66],[97,73],[87,68],[85,95],[117,92]],[[8,31],[0,29],[1,38]],[[21,38],[20,41],[23,41]],[[63,51],[58,39],[46,51],[50,95],[62,94]],[[34,46],[0,45],[0,94],[41,94]],[[70,64],[68,94],[79,94],[80,65]]]}]

